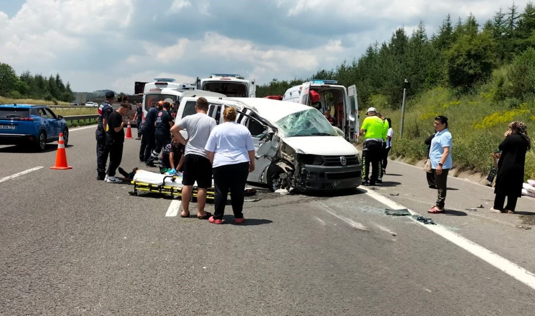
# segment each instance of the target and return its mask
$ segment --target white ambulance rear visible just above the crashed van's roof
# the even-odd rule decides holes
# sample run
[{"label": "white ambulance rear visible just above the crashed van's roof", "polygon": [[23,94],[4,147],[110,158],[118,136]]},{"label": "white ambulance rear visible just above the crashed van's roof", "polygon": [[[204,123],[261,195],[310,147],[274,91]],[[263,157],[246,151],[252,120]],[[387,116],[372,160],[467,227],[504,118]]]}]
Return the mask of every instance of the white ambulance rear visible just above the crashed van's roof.
[{"label": "white ambulance rear visible just above the crashed van's roof", "polygon": [[227,97],[256,96],[255,80],[240,79],[238,74],[211,74],[210,78],[197,79],[197,89],[224,94]]}]

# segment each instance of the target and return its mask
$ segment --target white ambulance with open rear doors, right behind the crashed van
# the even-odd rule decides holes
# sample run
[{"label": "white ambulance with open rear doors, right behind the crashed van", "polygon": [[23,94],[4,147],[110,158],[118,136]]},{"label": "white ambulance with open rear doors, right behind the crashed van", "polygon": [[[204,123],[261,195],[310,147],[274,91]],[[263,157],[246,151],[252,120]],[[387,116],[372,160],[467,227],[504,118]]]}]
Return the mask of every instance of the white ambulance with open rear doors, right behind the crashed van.
[{"label": "white ambulance with open rear doors, right behind the crashed van", "polygon": [[296,102],[315,107],[334,118],[333,126],[342,130],[349,142],[358,138],[358,102],[355,85],[348,88],[338,85],[336,80],[312,80],[289,88],[282,101]]}]

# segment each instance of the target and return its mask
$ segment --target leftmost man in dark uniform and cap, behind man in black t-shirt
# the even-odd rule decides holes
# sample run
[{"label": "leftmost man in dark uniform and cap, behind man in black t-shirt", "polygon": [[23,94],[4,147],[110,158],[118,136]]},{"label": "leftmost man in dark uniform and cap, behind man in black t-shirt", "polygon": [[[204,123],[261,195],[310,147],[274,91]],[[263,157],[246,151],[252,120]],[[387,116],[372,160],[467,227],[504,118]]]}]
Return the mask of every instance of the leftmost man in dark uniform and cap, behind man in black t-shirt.
[{"label": "leftmost man in dark uniform and cap, behind man in black t-shirt", "polygon": [[113,112],[111,104],[115,100],[113,91],[106,92],[106,100],[98,107],[98,125],[95,132],[97,140],[97,180],[104,180],[106,177],[106,161],[109,151],[106,147],[106,129],[108,128],[108,118]]}]

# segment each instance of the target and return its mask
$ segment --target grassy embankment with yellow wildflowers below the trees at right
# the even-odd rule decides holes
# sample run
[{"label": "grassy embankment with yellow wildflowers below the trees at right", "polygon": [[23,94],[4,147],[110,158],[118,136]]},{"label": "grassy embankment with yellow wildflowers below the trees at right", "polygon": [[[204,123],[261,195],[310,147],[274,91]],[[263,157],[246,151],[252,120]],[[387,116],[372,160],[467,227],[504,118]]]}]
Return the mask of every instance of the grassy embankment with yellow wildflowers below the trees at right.
[{"label": "grassy embankment with yellow wildflowers below the trees at right", "polygon": [[[424,140],[433,132],[433,121],[437,115],[448,117],[457,171],[487,174],[493,161],[491,152],[498,148],[511,121],[519,120],[526,124],[531,146],[535,147],[535,100],[507,106],[503,102],[494,102],[492,89],[487,91],[457,97],[452,90],[436,88],[411,99],[407,102],[401,138],[401,110],[383,110],[386,117],[392,118],[395,133],[391,155],[412,163],[425,159],[427,147]],[[374,101],[372,103],[379,111],[381,107],[384,109],[380,97]],[[361,112],[361,121],[364,117],[365,113]],[[525,179],[535,179],[534,149],[526,155]]]}]

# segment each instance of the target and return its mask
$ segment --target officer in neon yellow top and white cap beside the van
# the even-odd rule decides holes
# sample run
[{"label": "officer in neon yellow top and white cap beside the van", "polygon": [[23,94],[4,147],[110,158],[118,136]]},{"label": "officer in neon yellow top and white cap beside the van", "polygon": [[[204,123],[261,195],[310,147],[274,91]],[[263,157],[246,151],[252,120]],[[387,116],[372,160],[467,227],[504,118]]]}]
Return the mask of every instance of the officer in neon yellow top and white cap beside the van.
[{"label": "officer in neon yellow top and white cap beside the van", "polygon": [[[375,186],[379,178],[379,161],[383,157],[383,139],[385,138],[385,124],[377,116],[375,107],[370,107],[366,112],[368,115],[361,125],[360,135],[364,136],[364,147],[362,149],[362,184],[363,186]],[[371,164],[371,178],[370,175]]]}]

